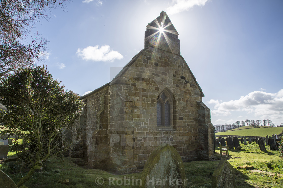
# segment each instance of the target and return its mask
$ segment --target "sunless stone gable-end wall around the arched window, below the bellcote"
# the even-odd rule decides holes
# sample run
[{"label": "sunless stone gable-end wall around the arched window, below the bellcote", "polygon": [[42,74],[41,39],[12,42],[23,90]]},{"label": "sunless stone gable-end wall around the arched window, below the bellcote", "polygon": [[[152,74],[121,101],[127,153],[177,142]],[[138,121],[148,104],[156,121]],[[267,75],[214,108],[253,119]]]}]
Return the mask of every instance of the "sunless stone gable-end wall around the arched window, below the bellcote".
[{"label": "sunless stone gable-end wall around the arched window, below the bellcote", "polygon": [[[147,47],[117,83],[110,86],[110,88],[113,87],[110,89],[109,100],[110,129],[117,126],[117,122],[123,122],[121,125],[127,124],[128,126],[125,129],[128,131],[125,132],[125,136],[132,134],[133,130],[134,145],[131,146],[132,142],[126,145],[130,152],[132,152],[130,148],[133,148],[136,167],[142,167],[149,154],[162,143],[173,145],[183,161],[198,158],[197,102],[202,100],[202,94],[182,56]],[[164,89],[172,94],[176,103],[174,119],[169,129],[158,128],[156,122],[157,97]],[[132,120],[126,120],[125,115],[123,119],[118,115],[112,117],[111,110],[119,107],[118,103],[111,106],[115,99],[115,90],[125,91],[133,100]],[[117,143],[119,144],[121,145]],[[125,150],[121,148],[123,149]],[[111,152],[120,155],[121,150],[111,150]],[[115,163],[114,160],[112,162]],[[132,165],[132,161],[124,160],[123,165]]]}]

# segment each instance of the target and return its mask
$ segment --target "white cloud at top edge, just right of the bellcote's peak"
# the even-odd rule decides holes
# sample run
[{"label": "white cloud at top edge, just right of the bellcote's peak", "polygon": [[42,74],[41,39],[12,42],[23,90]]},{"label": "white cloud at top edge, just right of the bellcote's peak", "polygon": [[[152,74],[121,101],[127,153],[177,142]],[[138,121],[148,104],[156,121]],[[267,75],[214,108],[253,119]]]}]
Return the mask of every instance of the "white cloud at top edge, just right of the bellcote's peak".
[{"label": "white cloud at top edge, just right of the bellcote's peak", "polygon": [[209,0],[173,0],[175,3],[173,6],[166,8],[167,14],[177,14],[179,12],[186,11],[193,6],[204,6]]}]

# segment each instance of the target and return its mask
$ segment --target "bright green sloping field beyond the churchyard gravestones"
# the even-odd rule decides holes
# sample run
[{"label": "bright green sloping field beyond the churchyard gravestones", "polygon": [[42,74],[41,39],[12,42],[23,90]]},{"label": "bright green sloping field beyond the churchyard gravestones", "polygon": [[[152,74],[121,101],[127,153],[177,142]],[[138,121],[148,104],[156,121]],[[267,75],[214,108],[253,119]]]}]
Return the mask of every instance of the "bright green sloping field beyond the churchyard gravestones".
[{"label": "bright green sloping field beyond the churchyard gravestones", "polygon": [[[248,126],[245,126],[248,127]],[[280,134],[283,132],[283,127],[266,127],[246,129],[240,127],[232,131],[217,132],[215,135],[237,135],[237,136],[272,136],[273,134]]]}]

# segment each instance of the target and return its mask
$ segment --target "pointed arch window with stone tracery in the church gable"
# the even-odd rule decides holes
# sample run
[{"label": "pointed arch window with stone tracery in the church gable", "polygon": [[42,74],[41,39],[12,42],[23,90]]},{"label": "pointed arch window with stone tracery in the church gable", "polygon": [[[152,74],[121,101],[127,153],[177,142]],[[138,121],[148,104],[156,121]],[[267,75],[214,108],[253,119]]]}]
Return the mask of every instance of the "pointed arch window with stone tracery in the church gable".
[{"label": "pointed arch window with stone tracery in the church gable", "polygon": [[162,91],[157,98],[157,126],[170,126],[172,99],[167,91]]}]

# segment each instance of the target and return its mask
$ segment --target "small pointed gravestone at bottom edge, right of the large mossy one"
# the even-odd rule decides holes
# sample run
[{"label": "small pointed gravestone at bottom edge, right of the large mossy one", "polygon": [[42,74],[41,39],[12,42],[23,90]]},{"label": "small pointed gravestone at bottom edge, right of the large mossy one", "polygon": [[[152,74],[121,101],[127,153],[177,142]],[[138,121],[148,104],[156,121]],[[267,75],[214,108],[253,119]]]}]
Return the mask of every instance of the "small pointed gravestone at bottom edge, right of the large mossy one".
[{"label": "small pointed gravestone at bottom edge, right of the large mossy one", "polygon": [[226,159],[221,159],[211,176],[212,188],[235,187],[235,170]]}]

